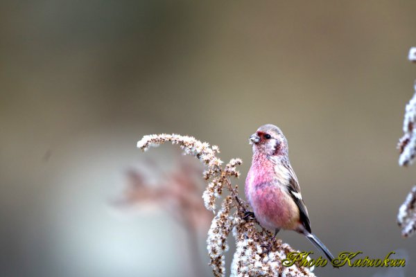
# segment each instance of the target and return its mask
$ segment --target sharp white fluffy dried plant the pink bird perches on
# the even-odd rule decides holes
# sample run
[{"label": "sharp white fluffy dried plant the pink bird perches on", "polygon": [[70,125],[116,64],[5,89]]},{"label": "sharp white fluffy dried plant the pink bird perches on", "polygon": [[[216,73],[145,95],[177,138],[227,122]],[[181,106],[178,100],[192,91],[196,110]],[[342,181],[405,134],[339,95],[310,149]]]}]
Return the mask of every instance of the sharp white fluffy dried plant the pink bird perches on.
[{"label": "sharp white fluffy dried plant the pink bird perches on", "polygon": [[[146,151],[165,142],[180,145],[185,154],[197,157],[207,167],[203,177],[208,185],[202,198],[205,208],[215,214],[207,238],[214,276],[225,276],[224,252],[229,249],[229,233],[236,242],[231,276],[315,276],[311,269],[300,267],[297,263],[291,267],[282,265],[282,260],[295,250],[281,240],[275,240],[268,253],[264,251],[262,246],[272,243],[273,234],[261,229],[254,218],[246,216],[248,204],[240,199],[238,187],[230,181],[231,177],[239,177],[236,166],[241,165],[241,159],[232,159],[221,167],[223,161],[216,157],[216,153],[220,152],[218,146],[178,134],[144,136],[137,147]],[[216,201],[221,195],[224,197],[221,208],[216,211]]]}]

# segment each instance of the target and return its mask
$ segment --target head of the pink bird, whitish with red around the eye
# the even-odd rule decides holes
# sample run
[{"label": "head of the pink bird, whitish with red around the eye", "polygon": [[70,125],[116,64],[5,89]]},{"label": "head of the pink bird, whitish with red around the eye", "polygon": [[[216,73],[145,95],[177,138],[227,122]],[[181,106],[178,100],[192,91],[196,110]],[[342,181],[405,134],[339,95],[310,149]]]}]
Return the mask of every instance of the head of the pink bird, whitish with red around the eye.
[{"label": "head of the pink bird, whitish with red around the eye", "polygon": [[266,156],[286,156],[288,154],[288,142],[279,127],[266,124],[250,136],[254,154]]}]

